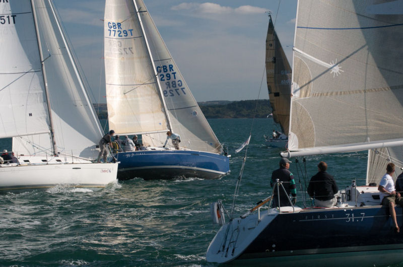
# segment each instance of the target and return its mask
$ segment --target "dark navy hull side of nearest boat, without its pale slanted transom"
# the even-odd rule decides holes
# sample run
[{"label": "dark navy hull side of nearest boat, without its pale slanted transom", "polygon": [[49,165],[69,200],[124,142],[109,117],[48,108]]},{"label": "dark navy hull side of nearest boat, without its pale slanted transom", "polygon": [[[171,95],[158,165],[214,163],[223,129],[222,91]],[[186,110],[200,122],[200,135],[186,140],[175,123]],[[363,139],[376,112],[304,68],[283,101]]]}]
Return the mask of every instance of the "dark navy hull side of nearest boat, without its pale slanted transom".
[{"label": "dark navy hull side of nearest boat, without its pale slanted transom", "polygon": [[[402,225],[402,208],[396,210]],[[396,233],[388,208],[354,208],[280,214],[260,232],[238,259],[293,258],[343,253],[401,251],[403,231]],[[401,254],[400,254],[401,255]],[[403,261],[403,255],[400,256]],[[267,261],[270,262],[270,261]]]}]

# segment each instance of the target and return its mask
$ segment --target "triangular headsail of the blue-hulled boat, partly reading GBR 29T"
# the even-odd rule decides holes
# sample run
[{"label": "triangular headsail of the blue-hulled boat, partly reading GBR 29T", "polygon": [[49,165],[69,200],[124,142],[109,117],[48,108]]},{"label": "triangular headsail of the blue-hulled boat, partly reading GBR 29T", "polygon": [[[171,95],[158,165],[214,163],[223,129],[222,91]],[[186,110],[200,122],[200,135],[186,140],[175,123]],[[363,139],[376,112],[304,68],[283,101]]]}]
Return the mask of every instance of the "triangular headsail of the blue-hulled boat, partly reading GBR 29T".
[{"label": "triangular headsail of the blue-hulled boat, partly reading GBR 29T", "polygon": [[[181,147],[220,153],[221,145],[189,90],[142,0],[136,0],[154,58],[172,130],[181,137]],[[161,146],[166,134],[143,135],[146,144]]]}]

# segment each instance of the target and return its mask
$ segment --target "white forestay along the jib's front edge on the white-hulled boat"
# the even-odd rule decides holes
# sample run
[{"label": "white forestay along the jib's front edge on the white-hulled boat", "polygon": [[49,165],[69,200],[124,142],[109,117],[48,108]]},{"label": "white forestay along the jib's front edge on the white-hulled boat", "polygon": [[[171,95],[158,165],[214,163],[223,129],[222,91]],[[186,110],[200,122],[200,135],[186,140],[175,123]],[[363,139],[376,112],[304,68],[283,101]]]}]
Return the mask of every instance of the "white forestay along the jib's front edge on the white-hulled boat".
[{"label": "white forestay along the jib's front edge on the white-hulled boat", "polygon": [[[83,79],[82,79],[82,77],[81,77],[81,75],[80,75],[80,73],[79,73],[79,70],[78,70],[78,67],[77,67],[77,63],[76,63],[76,61],[75,61],[74,58],[73,58],[73,53],[72,53],[72,50],[71,50],[71,48],[70,48],[69,42],[66,40],[66,35],[64,34],[64,30],[63,30],[63,28],[61,27],[59,16],[57,15],[57,13],[56,13],[56,11],[55,11],[55,9],[54,9],[54,6],[53,6],[52,1],[51,1],[51,0],[48,0],[48,1],[49,1],[49,6],[50,6],[50,8],[52,9],[53,16],[54,16],[54,18],[55,18],[55,20],[56,20],[57,28],[58,28],[59,31],[60,31],[60,35],[61,35],[61,38],[62,38],[62,40],[63,40],[64,46],[66,47],[66,51],[68,52],[69,58],[70,58],[71,62],[73,63],[74,72],[75,72],[76,77],[77,77],[77,79],[78,79],[78,81],[79,81],[79,83],[80,83],[81,90],[83,91],[83,94],[84,94],[84,96],[85,96],[85,99],[86,99],[86,101],[87,101],[87,104],[88,104],[88,105],[90,106],[90,108],[91,108],[91,114],[92,114],[94,120],[95,120],[95,121],[98,121],[98,117],[95,115],[94,107],[93,107],[91,101],[90,101],[89,98],[88,98],[88,92],[87,92],[86,88],[84,87],[84,82],[83,82]],[[100,125],[99,123],[97,123],[97,126],[98,126],[98,129],[99,129],[100,134],[103,135],[103,131],[102,131],[102,129],[101,129],[101,125]]]}]

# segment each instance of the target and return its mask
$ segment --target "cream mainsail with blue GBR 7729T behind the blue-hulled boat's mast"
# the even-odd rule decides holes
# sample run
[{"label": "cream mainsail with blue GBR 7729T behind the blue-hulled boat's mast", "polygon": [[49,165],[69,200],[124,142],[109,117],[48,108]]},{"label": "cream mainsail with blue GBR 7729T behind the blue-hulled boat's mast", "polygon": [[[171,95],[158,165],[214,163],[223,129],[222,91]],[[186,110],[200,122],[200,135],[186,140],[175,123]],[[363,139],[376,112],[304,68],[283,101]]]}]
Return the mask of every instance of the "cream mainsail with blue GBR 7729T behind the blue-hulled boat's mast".
[{"label": "cream mainsail with blue GBR 7729T behind the blue-hulled boat's mast", "polygon": [[109,128],[119,134],[166,131],[169,121],[133,1],[106,0],[104,25]]}]

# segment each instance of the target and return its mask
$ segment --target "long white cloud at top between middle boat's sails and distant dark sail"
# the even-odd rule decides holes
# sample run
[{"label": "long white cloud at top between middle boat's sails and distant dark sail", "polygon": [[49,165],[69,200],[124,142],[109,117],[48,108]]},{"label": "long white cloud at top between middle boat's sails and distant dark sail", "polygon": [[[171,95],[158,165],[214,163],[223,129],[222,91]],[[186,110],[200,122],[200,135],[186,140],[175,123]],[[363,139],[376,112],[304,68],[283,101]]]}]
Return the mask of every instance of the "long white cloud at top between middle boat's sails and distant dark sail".
[{"label": "long white cloud at top between middle boat's sails and distant dark sail", "polygon": [[189,10],[197,13],[207,14],[261,14],[267,11],[267,9],[253,7],[253,6],[240,6],[238,8],[223,7],[215,3],[182,3],[177,6],[173,6],[171,10]]}]

